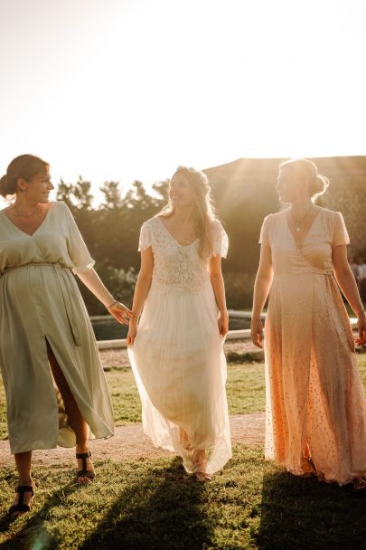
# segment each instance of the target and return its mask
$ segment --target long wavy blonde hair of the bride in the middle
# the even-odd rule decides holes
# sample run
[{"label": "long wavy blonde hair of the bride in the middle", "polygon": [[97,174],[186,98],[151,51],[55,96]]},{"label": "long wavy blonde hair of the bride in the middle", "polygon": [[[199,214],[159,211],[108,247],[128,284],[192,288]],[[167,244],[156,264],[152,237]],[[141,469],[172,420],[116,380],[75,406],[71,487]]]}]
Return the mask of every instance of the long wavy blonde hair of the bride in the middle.
[{"label": "long wavy blonde hair of the bride in the middle", "polygon": [[[211,257],[213,251],[211,226],[212,222],[217,219],[209,179],[201,170],[187,166],[178,166],[174,172],[174,175],[177,174],[183,174],[191,185],[195,197],[197,233],[200,240],[198,253],[202,259],[207,259]],[[165,204],[164,208],[156,215],[168,218],[173,213],[174,205],[168,196],[168,204]]]}]

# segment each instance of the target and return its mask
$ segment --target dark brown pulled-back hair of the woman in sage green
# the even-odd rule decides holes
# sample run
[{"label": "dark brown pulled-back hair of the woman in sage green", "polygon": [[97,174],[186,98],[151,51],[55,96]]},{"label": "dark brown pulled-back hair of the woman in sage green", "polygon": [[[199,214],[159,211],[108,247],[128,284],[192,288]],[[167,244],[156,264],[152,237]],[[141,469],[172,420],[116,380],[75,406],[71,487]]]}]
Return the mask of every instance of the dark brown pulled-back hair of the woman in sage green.
[{"label": "dark brown pulled-back hair of the woman in sage green", "polygon": [[34,175],[48,172],[50,165],[39,156],[16,156],[7,167],[6,174],[0,179],[0,194],[7,196],[18,190],[18,179],[30,181]]}]

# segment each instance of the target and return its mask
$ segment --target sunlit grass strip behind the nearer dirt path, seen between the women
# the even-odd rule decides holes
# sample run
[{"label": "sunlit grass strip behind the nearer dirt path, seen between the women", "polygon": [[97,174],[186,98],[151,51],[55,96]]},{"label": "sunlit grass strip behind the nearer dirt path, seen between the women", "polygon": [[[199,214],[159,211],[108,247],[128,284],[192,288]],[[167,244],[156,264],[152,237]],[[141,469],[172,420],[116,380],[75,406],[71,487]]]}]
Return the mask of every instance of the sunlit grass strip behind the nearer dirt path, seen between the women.
[{"label": "sunlit grass strip behind the nearer dirt path, seen between the women", "polygon": [[[362,382],[366,387],[366,354],[358,356]],[[115,422],[141,422],[141,405],[134,375],[130,368],[112,369],[106,373],[112,396]],[[263,363],[228,365],[227,393],[230,414],[265,410]],[[5,394],[0,377],[0,439],[6,439]]]}]

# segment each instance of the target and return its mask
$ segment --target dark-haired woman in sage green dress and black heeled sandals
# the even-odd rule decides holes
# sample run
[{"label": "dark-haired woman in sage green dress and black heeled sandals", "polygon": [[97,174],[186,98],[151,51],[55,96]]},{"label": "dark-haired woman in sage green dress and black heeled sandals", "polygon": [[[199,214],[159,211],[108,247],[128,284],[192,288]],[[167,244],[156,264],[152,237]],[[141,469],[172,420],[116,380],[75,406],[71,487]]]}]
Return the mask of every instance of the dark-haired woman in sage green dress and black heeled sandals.
[{"label": "dark-haired woman in sage green dress and black heeled sandals", "polygon": [[[0,211],[0,365],[19,474],[14,516],[30,509],[33,450],[76,445],[77,479],[87,483],[94,478],[88,438],[113,435],[108,387],[72,272],[119,322],[130,314],[93,269],[66,204],[49,201],[52,189],[49,165],[33,155],[14,158],[0,180],[1,194],[15,194]],[[54,383],[67,418],[59,418]]]}]

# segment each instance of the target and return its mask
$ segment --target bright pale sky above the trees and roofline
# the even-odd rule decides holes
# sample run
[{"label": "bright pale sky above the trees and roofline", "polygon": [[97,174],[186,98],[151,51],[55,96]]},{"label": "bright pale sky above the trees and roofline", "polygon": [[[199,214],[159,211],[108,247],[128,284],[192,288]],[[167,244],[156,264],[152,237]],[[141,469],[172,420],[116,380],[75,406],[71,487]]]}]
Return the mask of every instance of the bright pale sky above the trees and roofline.
[{"label": "bright pale sky above the trees and roofline", "polygon": [[0,172],[366,154],[364,0],[0,0]]}]

